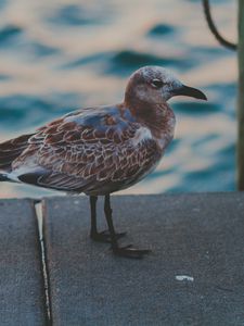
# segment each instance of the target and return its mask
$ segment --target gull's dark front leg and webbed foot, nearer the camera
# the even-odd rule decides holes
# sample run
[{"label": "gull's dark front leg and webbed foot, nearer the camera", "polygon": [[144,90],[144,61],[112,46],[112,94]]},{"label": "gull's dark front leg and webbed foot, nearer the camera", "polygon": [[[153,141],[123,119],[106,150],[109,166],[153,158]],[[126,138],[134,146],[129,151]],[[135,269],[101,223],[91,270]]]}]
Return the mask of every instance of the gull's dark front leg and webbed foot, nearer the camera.
[{"label": "gull's dark front leg and webbed foot, nearer the camera", "polygon": [[104,212],[105,212],[106,222],[107,222],[107,226],[108,226],[108,230],[110,230],[110,235],[111,235],[112,250],[115,254],[121,255],[121,256],[127,256],[127,258],[132,258],[132,259],[140,259],[144,254],[150,252],[150,250],[134,249],[134,248],[132,248],[131,244],[126,246],[126,247],[118,246],[118,241],[117,241],[117,237],[116,237],[114,224],[113,224],[110,195],[105,196]]}]

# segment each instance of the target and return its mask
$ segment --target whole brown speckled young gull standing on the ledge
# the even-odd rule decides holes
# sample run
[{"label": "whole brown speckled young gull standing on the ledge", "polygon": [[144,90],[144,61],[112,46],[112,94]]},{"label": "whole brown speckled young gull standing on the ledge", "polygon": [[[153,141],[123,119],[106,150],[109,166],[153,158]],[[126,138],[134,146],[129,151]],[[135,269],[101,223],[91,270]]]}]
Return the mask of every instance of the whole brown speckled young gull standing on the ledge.
[{"label": "whole brown speckled young gull standing on the ledge", "polygon": [[[36,185],[90,198],[90,237],[111,242],[113,253],[142,258],[150,250],[119,246],[111,193],[139,183],[163,158],[176,118],[175,96],[207,100],[160,66],[143,66],[129,78],[119,104],[80,109],[35,133],[0,143],[0,180]],[[104,197],[108,230],[97,227],[97,200]]]}]

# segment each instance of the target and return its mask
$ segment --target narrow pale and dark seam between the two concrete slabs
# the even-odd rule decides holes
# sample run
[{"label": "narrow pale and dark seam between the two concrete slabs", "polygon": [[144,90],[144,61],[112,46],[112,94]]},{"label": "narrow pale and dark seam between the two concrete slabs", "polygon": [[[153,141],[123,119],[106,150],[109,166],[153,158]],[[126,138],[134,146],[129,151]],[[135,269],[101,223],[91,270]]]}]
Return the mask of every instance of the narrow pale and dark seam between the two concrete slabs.
[{"label": "narrow pale and dark seam between the two concrete slabs", "polygon": [[43,235],[43,212],[42,201],[35,202],[36,217],[38,223],[38,242],[41,261],[41,274],[43,279],[43,291],[44,291],[44,306],[46,306],[46,325],[52,325],[52,313],[51,313],[51,296],[50,296],[50,279],[47,265],[46,254],[46,241]]}]

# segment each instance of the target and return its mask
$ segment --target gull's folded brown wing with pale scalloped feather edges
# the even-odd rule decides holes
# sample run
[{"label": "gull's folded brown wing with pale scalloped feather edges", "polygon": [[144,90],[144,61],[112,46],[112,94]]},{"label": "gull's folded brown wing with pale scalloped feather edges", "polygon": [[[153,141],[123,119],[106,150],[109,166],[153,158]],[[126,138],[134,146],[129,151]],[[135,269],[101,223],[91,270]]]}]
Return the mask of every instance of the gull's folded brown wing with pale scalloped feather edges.
[{"label": "gull's folded brown wing with pale scalloped feather edges", "polygon": [[[38,186],[87,191],[107,183],[120,183],[139,173],[155,155],[155,143],[143,149],[133,139],[140,125],[113,110],[87,110],[66,115],[40,128],[14,168],[38,166],[27,176]],[[151,160],[152,161],[152,160]],[[31,165],[30,164],[30,165]],[[35,173],[34,173],[35,174]],[[21,180],[28,181],[26,176]]]}]

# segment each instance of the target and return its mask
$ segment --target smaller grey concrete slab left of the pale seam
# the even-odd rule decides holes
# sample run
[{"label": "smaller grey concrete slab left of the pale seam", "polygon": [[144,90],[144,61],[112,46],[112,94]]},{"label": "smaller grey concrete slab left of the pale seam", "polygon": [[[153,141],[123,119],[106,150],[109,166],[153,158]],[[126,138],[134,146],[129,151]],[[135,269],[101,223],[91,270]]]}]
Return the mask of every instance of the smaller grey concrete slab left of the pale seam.
[{"label": "smaller grey concrete slab left of the pale seam", "polygon": [[0,325],[46,325],[34,204],[0,200]]}]

